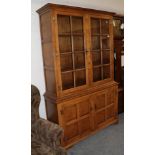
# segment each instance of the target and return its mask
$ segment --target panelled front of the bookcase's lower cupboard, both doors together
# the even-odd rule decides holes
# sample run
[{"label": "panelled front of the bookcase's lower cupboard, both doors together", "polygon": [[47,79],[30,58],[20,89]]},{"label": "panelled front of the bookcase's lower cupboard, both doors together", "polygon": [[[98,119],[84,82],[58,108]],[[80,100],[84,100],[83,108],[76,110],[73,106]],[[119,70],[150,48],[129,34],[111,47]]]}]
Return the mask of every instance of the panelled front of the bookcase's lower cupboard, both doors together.
[{"label": "panelled front of the bookcase's lower cupboard, both doors together", "polygon": [[117,120],[117,87],[60,103],[58,111],[62,145],[69,147]]}]

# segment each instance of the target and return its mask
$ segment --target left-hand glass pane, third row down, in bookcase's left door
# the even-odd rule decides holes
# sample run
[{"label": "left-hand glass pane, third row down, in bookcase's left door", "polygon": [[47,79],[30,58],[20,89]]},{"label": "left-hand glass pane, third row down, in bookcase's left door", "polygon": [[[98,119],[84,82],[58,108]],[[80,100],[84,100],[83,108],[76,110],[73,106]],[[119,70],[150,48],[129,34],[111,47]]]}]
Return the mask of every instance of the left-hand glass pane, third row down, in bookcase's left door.
[{"label": "left-hand glass pane, third row down, in bookcase's left door", "polygon": [[73,69],[72,54],[63,54],[60,57],[61,71],[68,71]]}]

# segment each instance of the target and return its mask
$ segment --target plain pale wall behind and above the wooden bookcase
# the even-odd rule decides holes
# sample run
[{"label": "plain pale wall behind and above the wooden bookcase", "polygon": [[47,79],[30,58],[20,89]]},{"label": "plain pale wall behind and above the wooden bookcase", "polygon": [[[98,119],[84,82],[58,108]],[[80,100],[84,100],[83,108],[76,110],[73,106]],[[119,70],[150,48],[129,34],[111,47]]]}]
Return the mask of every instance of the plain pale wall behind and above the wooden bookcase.
[{"label": "plain pale wall behind and above the wooden bookcase", "polygon": [[41,51],[41,39],[39,28],[39,16],[36,10],[46,3],[64,4],[79,7],[86,7],[104,11],[111,11],[124,14],[124,0],[32,0],[31,1],[31,83],[40,90],[41,104],[40,116],[46,118],[45,102],[43,94],[45,92],[45,82],[43,73],[43,60]]}]

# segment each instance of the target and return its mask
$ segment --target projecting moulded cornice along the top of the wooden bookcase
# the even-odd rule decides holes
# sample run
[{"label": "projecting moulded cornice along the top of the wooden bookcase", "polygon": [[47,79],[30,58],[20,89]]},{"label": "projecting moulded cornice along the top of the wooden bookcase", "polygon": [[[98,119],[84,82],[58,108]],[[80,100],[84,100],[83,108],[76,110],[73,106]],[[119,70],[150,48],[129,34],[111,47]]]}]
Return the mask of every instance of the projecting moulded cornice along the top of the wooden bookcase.
[{"label": "projecting moulded cornice along the top of the wooden bookcase", "polygon": [[77,11],[84,11],[84,12],[91,12],[91,13],[103,13],[103,14],[107,14],[107,15],[115,15],[114,12],[108,12],[108,11],[102,11],[102,10],[95,10],[95,9],[90,9],[90,8],[82,8],[82,7],[76,7],[76,6],[66,6],[66,5],[59,5],[59,4],[53,4],[53,3],[48,3],[46,5],[44,5],[43,7],[41,7],[40,9],[37,10],[37,12],[39,14],[43,14],[44,12],[46,12],[47,10],[50,9],[57,9],[57,8],[62,8],[62,9],[76,9]]}]

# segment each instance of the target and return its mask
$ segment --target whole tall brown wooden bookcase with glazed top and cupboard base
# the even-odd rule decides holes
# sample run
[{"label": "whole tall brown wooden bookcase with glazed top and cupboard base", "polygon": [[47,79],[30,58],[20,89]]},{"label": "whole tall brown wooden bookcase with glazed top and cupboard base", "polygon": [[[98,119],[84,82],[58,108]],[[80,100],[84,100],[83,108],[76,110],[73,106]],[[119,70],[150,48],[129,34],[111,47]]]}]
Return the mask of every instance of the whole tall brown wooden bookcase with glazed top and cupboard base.
[{"label": "whole tall brown wooden bookcase with glazed top and cupboard base", "polygon": [[114,13],[56,4],[37,10],[47,119],[64,129],[68,148],[118,122]]}]

